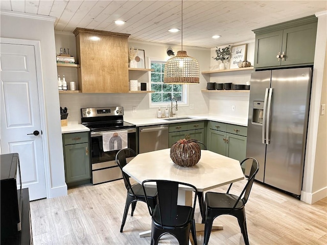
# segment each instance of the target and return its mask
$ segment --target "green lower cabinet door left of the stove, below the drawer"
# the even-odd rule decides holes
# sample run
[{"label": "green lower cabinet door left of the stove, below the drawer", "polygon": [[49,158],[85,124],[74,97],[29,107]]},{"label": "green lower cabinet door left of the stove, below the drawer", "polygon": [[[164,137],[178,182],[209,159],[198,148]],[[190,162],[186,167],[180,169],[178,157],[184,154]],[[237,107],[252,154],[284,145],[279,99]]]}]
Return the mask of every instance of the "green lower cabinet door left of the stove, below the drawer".
[{"label": "green lower cabinet door left of the stove, below the drawer", "polygon": [[90,179],[88,143],[65,145],[66,182]]}]

